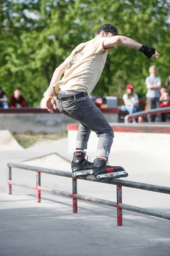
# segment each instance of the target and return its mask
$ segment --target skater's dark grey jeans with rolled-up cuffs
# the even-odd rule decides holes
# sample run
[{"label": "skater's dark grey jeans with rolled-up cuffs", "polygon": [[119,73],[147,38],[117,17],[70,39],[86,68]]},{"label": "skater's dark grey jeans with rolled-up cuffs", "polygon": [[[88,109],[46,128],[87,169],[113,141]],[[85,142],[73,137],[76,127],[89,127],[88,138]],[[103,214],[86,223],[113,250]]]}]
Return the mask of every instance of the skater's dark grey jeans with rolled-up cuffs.
[{"label": "skater's dark grey jeans with rolled-up cuffs", "polygon": [[99,138],[97,156],[108,157],[113,143],[113,129],[88,96],[71,100],[56,99],[57,108],[63,114],[80,122],[77,133],[76,148],[87,149],[91,130]]}]

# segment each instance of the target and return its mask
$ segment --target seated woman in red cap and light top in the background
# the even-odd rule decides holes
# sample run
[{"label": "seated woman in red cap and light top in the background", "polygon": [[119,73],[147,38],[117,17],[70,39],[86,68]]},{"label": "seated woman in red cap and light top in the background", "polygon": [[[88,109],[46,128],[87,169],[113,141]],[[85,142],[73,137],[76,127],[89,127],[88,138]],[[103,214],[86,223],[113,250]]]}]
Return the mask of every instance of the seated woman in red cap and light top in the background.
[{"label": "seated woman in red cap and light top in the background", "polygon": [[[126,110],[132,114],[139,111],[139,99],[137,93],[133,93],[133,85],[127,84],[126,93],[123,95]],[[132,119],[136,123],[136,118]]]}]

